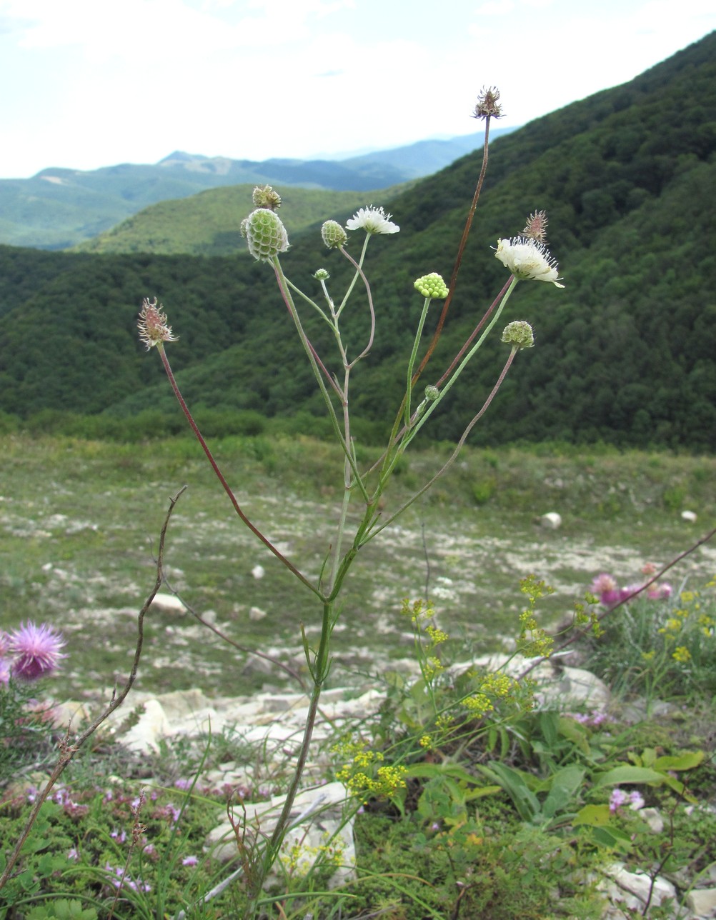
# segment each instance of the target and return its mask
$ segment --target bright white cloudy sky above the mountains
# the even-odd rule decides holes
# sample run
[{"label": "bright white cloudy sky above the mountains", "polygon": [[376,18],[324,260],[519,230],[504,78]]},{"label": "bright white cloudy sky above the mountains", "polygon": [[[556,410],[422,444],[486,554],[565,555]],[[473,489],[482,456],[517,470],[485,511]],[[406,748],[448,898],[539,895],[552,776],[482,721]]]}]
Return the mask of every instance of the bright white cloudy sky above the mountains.
[{"label": "bright white cloudy sky above the mountains", "polygon": [[713,0],[0,0],[0,178],[516,127],[716,29]]}]

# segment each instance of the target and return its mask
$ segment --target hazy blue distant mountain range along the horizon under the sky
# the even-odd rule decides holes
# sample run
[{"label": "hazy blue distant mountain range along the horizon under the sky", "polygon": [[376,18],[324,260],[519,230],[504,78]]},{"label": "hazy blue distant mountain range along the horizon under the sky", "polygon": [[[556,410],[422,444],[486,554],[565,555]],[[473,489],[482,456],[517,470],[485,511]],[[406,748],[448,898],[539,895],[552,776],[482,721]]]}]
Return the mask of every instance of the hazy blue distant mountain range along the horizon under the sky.
[{"label": "hazy blue distant mountain range along the horizon under the sky", "polygon": [[[491,134],[514,129],[496,128]],[[42,169],[31,178],[0,179],[0,243],[66,249],[98,236],[157,201],[187,198],[217,186],[294,185],[371,191],[422,178],[482,145],[482,133],[419,141],[344,160],[232,160],[176,151],[155,165],[123,163],[87,172]]]}]

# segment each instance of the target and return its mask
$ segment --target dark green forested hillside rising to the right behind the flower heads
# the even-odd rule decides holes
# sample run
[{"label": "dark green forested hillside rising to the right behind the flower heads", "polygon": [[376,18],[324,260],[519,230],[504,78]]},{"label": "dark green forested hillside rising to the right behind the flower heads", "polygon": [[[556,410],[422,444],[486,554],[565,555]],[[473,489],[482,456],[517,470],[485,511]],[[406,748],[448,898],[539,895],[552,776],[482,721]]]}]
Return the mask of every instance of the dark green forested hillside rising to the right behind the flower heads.
[{"label": "dark green forested hillside rising to the right behind the flower heads", "polygon": [[[549,213],[566,287],[517,287],[505,321],[529,320],[536,347],[518,355],[473,441],[716,448],[715,152],[716,33],[629,84],[495,142],[424,382],[440,375],[506,280],[490,247],[519,232],[536,209]],[[429,271],[449,277],[478,171],[479,156],[468,155],[399,194],[390,211],[400,233],[369,247],[378,327],[354,402],[368,419],[399,400],[420,309],[412,282]],[[334,216],[344,220],[350,210]],[[323,266],[341,290],[347,272],[322,246],[318,227],[291,243],[282,264],[294,282],[314,292],[311,274]],[[171,359],[194,405],[321,413],[268,266],[10,247],[0,247],[0,409],[27,416],[42,408],[114,415],[158,408],[175,416],[156,355],[144,352],[134,330],[142,297],[155,294],[179,335]],[[349,335],[360,339],[367,311],[359,300],[352,309]],[[313,317],[307,322],[315,326]],[[315,335],[328,349],[322,332]],[[433,437],[459,436],[499,373],[503,350],[496,340],[480,352],[435,418]]]}]

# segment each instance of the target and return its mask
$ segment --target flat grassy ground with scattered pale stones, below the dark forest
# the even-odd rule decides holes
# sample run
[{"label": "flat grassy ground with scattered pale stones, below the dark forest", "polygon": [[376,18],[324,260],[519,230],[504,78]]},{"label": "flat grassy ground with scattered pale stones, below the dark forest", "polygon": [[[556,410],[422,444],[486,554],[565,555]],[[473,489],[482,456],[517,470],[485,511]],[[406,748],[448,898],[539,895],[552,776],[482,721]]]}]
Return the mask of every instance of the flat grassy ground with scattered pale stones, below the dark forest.
[{"label": "flat grassy ground with scattered pale stones, below the dark forest", "polygon": [[[341,500],[337,450],[304,438],[265,437],[213,447],[248,514],[316,578]],[[299,621],[314,637],[313,598],[237,521],[195,443],[6,437],[2,451],[0,627],[26,618],[61,627],[72,656],[65,692],[103,685],[125,667],[134,617],[154,580],[152,547],[167,500],[185,484],[167,541],[169,583],[199,612],[213,610],[242,645],[278,649],[303,666]],[[386,512],[420,488],[445,456],[437,449],[410,456],[387,493]],[[368,459],[359,454],[362,464]],[[398,526],[361,551],[335,635],[333,681],[410,654],[398,610],[402,597],[424,590],[426,553],[438,620],[465,657],[514,638],[525,575],[535,573],[557,589],[539,605],[544,621],[554,622],[600,571],[628,583],[638,580],[645,561],[664,563],[689,546],[716,513],[715,495],[713,459],[468,449]],[[685,508],[699,512],[696,527],[682,521]],[[562,515],[559,530],[535,523],[549,511]],[[688,578],[698,588],[712,575],[714,558],[707,546],[669,579],[678,585]],[[261,580],[251,575],[257,564],[266,570]],[[266,616],[249,617],[252,607]],[[148,626],[144,689],[184,686],[187,670],[222,693],[244,693],[265,679],[250,663],[244,670],[250,661],[244,655],[237,667],[236,653],[197,633],[189,615],[157,614]]]}]

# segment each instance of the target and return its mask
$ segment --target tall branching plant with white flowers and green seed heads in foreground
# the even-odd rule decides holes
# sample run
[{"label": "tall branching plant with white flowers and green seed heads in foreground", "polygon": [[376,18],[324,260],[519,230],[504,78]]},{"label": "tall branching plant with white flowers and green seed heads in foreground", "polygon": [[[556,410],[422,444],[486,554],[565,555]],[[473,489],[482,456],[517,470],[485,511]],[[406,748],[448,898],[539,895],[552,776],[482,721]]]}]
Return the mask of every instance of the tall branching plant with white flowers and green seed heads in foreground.
[{"label": "tall branching plant with white flowers and green seed heads in foreground", "polygon": [[[493,117],[499,118],[500,114],[499,92],[497,89],[490,87],[483,90],[475,109],[475,117],[485,120],[486,138],[490,119]],[[344,581],[361,549],[375,539],[388,524],[395,521],[398,514],[417,500],[433,485],[436,479],[442,477],[453,465],[457,454],[459,454],[468,438],[469,432],[491,405],[491,401],[500,385],[502,385],[502,380],[514,361],[515,355],[518,351],[533,345],[532,329],[528,323],[523,321],[513,322],[504,329],[502,338],[512,346],[510,354],[506,362],[504,362],[502,372],[499,374],[491,393],[484,399],[482,405],[475,409],[473,418],[469,421],[465,431],[463,431],[453,454],[448,457],[447,461],[433,477],[428,478],[422,488],[416,489],[415,493],[402,506],[395,511],[385,513],[382,511],[383,493],[388,487],[398,460],[410,447],[410,443],[412,443],[417,432],[421,431],[429,423],[433,417],[433,412],[442,406],[445,398],[451,393],[453,386],[460,380],[468,362],[474,359],[485,339],[491,334],[517,282],[521,280],[549,281],[557,287],[562,286],[558,280],[557,263],[549,255],[544,243],[544,230],[547,226],[546,215],[543,212],[532,214],[527,221],[527,227],[522,236],[501,239],[498,242],[496,256],[512,271],[512,277],[504,284],[502,291],[498,293],[494,302],[488,307],[476,328],[465,340],[452,362],[449,362],[445,371],[442,374],[438,374],[437,379],[432,384],[427,387],[423,385],[424,397],[420,404],[413,408],[412,397],[415,387],[433,356],[435,344],[441,335],[445,314],[455,291],[460,262],[465,252],[465,242],[478,201],[479,189],[487,162],[487,143],[484,146],[485,154],[483,155],[478,187],[468,213],[460,247],[457,251],[456,262],[450,275],[450,282],[445,283],[440,274],[432,271],[419,277],[413,284],[413,289],[420,293],[424,300],[422,308],[414,311],[416,332],[410,357],[405,365],[405,374],[403,375],[405,391],[399,406],[396,407],[396,415],[384,453],[373,466],[365,469],[359,464],[358,454],[354,446],[354,432],[352,431],[353,375],[360,362],[364,361],[370,354],[381,312],[375,308],[374,293],[366,276],[364,264],[371,239],[378,235],[391,236],[397,234],[399,231],[398,224],[393,223],[392,215],[386,213],[383,207],[368,205],[354,213],[352,218],[346,222],[345,227],[334,220],[326,221],[322,225],[321,238],[324,245],[330,250],[329,258],[346,259],[352,268],[352,279],[340,296],[335,296],[329,290],[331,275],[327,269],[318,269],[313,274],[313,279],[318,282],[316,286],[319,289],[318,294],[314,295],[301,291],[284,274],[280,256],[288,248],[288,237],[283,223],[274,210],[280,203],[280,199],[275,196],[275,193],[270,188],[260,187],[255,191],[254,204],[257,205],[257,209],[250,213],[242,224],[242,234],[247,239],[249,252],[255,259],[271,263],[283,303],[294,323],[294,328],[306,354],[306,360],[310,364],[318,391],[323,398],[333,431],[338,443],[341,445],[343,455],[343,500],[337,514],[334,534],[326,552],[326,561],[318,576],[309,576],[297,569],[290,559],[283,556],[278,547],[271,544],[268,537],[263,535],[259,528],[248,519],[247,514],[241,509],[236,496],[228,486],[214,457],[203,441],[201,432],[198,431],[194,420],[191,418],[189,409],[183,402],[179,387],[169,368],[165,350],[163,348],[157,350],[165,363],[169,380],[179,398],[179,403],[184,409],[188,420],[190,420],[193,430],[202,443],[202,448],[214,467],[214,472],[219,477],[240,519],[259,537],[264,546],[294,574],[306,590],[313,593],[321,611],[318,644],[312,647],[308,638],[306,638],[307,631],[303,633],[306,661],[313,687],[306,715],[306,730],[301,750],[298,754],[298,766],[288,788],[279,821],[275,824],[271,835],[264,838],[261,845],[257,845],[250,858],[247,857],[250,865],[246,867],[246,875],[251,880],[248,889],[250,889],[250,899],[252,899],[251,909],[249,909],[247,916],[254,916],[255,914],[254,908],[256,908],[260,897],[263,881],[267,878],[271,865],[279,852],[289,824],[291,809],[301,779],[302,765],[306,762],[308,745],[311,741],[318,713],[318,701],[323,685],[329,675],[330,637],[339,616],[338,603]],[[348,243],[346,231],[360,230],[364,231],[363,245],[360,254],[353,258],[346,246]],[[487,255],[487,252],[485,254]],[[405,293],[408,295],[410,292]],[[352,308],[344,313],[351,298]],[[346,316],[355,316],[358,306],[353,305],[355,300],[360,302],[359,305],[363,305],[366,312],[366,321],[363,326],[361,324],[351,326],[349,323],[348,328],[344,328],[344,318]],[[430,306],[434,300],[442,300],[444,304],[441,308],[441,315],[435,325],[431,342],[427,350],[424,350],[422,361],[418,364],[418,356],[423,346],[423,329],[430,313]],[[308,338],[302,315],[306,308],[312,311],[312,315],[318,314],[320,319],[328,325],[334,345],[332,354],[319,354],[318,348]],[[407,310],[408,307],[406,307]],[[166,316],[162,314],[160,318],[166,327]],[[150,339],[152,344],[156,343],[155,338],[159,339],[159,343],[162,340],[168,340],[166,333],[161,336],[157,336],[156,333],[150,335],[147,331],[147,326],[146,316],[141,317],[140,331],[143,340]],[[168,329],[168,327],[166,328]],[[363,336],[363,338],[356,340],[359,335]],[[360,509],[356,513],[349,515],[349,509],[356,503],[360,503]],[[354,525],[353,529],[352,522],[356,520],[358,523]],[[348,533],[349,529],[350,534]]]}]

